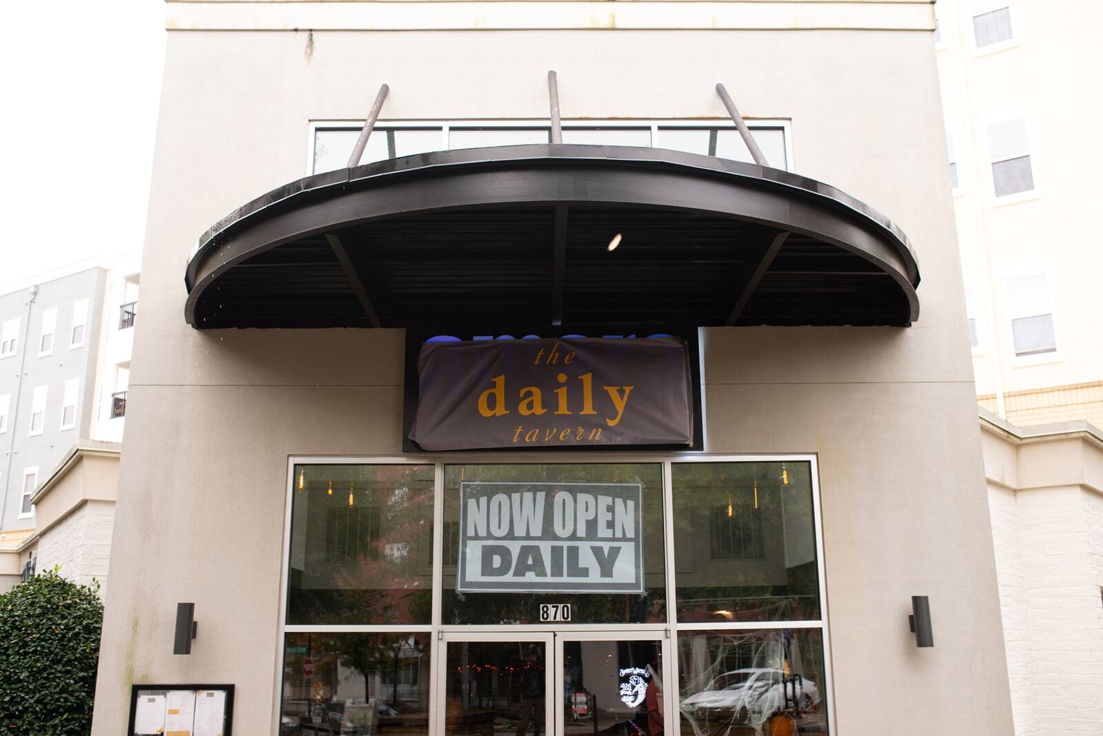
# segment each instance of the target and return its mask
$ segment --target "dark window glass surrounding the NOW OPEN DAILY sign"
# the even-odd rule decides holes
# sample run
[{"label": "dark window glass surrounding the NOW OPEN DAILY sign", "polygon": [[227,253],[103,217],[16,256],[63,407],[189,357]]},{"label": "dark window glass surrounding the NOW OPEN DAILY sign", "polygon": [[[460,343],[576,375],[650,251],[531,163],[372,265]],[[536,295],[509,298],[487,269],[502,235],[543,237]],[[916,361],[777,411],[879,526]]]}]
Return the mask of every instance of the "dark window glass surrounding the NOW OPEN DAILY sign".
[{"label": "dark window glass surrounding the NOW OPEN DAILY sign", "polygon": [[[572,624],[639,624],[666,620],[663,556],[662,465],[514,464],[445,466],[443,624],[539,624],[540,604],[570,604]],[[481,593],[458,591],[460,484],[639,484],[643,539],[643,593]],[[546,486],[542,486],[546,487]],[[577,485],[575,486],[577,488]],[[552,519],[545,520],[548,526]],[[550,570],[555,561],[545,565]],[[516,574],[516,573],[514,573]]]}]

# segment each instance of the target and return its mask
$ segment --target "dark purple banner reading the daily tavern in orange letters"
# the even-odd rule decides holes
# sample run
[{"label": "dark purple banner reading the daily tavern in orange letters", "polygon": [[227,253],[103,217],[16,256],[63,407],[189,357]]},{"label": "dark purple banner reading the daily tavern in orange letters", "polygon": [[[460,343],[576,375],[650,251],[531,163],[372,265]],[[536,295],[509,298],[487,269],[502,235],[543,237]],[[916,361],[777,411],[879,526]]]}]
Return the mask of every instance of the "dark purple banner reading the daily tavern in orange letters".
[{"label": "dark purple banner reading the daily tavern in orange letters", "polygon": [[417,367],[422,450],[693,442],[678,337],[426,343]]}]

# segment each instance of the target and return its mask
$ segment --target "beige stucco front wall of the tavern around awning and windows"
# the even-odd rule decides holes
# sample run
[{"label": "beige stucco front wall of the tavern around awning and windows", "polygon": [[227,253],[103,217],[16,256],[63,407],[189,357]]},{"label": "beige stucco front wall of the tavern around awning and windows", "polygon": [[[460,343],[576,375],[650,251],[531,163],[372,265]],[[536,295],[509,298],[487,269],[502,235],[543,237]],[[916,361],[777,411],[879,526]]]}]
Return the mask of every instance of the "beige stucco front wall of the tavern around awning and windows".
[{"label": "beige stucco front wall of the tavern around awning and windows", "polygon": [[[93,733],[154,681],[236,683],[235,730],[272,733],[287,457],[400,451],[403,333],[194,331],[196,236],[302,176],[309,121],[362,118],[382,82],[387,118],[539,118],[549,68],[567,117],[719,118],[724,80],[792,120],[794,171],[909,234],[912,328],[706,331],[707,450],[820,454],[840,733],[881,733],[874,693],[907,693],[896,734],[1010,733],[934,58],[898,31],[170,33]],[[200,636],[173,657],[182,600]]]}]

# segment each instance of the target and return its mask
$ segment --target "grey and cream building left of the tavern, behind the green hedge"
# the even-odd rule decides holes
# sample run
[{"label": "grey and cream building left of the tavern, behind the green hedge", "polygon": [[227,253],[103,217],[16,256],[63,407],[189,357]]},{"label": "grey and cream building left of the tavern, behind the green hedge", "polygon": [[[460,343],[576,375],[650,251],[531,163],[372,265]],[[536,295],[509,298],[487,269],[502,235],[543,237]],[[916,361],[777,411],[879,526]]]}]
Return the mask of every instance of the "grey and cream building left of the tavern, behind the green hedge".
[{"label": "grey and cream building left of the tavern, behind the green hedge", "polygon": [[138,255],[0,294],[0,589],[108,574]]}]

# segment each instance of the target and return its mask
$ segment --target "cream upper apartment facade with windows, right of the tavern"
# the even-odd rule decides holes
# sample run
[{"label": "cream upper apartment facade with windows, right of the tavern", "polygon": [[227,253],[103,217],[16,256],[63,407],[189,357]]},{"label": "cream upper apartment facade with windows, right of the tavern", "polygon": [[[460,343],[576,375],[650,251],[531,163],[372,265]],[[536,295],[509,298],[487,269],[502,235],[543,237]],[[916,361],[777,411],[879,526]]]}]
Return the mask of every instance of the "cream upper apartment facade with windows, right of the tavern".
[{"label": "cream upper apartment facade with windows, right of the tavern", "polygon": [[1019,425],[1103,426],[1097,206],[1103,115],[1084,95],[1103,6],[940,0],[939,76],[981,405]]}]

